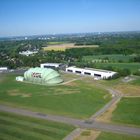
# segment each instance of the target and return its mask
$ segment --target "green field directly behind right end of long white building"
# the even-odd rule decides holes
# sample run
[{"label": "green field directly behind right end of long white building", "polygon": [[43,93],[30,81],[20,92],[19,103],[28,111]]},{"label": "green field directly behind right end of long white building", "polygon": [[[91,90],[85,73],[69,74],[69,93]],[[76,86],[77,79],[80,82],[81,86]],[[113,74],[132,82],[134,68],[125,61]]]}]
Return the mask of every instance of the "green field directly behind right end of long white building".
[{"label": "green field directly behind right end of long white building", "polygon": [[132,72],[135,72],[140,69],[140,64],[139,63],[96,63],[95,64],[98,68],[100,67],[107,67],[107,66],[112,66],[114,68],[127,68],[131,70]]}]

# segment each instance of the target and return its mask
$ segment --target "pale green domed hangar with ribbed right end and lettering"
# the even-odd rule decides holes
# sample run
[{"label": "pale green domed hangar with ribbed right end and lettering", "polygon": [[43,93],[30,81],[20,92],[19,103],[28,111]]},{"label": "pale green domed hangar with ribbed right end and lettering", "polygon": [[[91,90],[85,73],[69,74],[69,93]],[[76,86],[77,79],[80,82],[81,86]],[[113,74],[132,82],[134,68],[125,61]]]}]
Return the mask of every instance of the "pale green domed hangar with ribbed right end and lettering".
[{"label": "pale green domed hangar with ribbed right end and lettering", "polygon": [[36,84],[58,84],[63,82],[60,74],[50,68],[30,68],[24,73],[24,79]]}]

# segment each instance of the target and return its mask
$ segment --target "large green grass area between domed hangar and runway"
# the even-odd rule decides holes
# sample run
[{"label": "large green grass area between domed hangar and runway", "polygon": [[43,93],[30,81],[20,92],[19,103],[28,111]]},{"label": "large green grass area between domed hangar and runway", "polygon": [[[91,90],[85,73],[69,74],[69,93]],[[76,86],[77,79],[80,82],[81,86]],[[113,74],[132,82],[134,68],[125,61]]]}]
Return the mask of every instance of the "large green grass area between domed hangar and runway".
[{"label": "large green grass area between domed hangar and runway", "polygon": [[3,77],[0,102],[44,113],[87,118],[111,99],[107,91],[85,80],[67,85],[41,86],[17,82],[15,77]]}]

